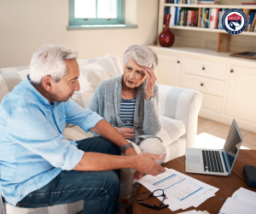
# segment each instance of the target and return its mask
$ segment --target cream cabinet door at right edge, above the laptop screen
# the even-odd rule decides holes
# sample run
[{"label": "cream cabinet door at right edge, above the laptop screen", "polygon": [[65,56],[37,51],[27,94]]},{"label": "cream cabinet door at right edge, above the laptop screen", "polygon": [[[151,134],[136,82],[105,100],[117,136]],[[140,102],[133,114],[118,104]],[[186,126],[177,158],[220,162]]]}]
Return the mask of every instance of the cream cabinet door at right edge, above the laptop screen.
[{"label": "cream cabinet door at right edge, above the laptop screen", "polygon": [[256,123],[256,69],[231,69],[226,114]]}]

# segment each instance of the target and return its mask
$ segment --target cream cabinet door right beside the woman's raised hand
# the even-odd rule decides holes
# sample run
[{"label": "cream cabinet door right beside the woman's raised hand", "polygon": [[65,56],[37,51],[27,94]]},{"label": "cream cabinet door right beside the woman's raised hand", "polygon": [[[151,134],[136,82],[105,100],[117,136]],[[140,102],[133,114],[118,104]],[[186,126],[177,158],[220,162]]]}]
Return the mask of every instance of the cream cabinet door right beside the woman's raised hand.
[{"label": "cream cabinet door right beside the woman's raised hand", "polygon": [[157,84],[180,85],[182,57],[157,54],[159,62],[156,72]]}]

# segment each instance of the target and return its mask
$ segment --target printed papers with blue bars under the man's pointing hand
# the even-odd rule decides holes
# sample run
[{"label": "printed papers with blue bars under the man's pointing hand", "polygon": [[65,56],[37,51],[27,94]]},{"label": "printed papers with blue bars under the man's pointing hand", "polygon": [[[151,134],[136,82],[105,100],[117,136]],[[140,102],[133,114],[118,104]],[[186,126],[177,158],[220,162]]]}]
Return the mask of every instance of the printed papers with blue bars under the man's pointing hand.
[{"label": "printed papers with blue bars under the man's pointing hand", "polygon": [[218,188],[207,183],[167,168],[166,172],[158,176],[143,176],[138,182],[151,192],[163,189],[166,194],[164,203],[169,205],[171,211],[185,210],[190,206],[197,207],[218,191]]}]

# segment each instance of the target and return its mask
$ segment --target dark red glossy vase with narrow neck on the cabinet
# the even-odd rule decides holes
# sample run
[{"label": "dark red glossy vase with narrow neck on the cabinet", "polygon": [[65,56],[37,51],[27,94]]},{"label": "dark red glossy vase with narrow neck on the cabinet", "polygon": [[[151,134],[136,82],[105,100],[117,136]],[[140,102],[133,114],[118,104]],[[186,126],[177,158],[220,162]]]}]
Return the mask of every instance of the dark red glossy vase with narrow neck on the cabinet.
[{"label": "dark red glossy vase with narrow neck on the cabinet", "polygon": [[166,27],[163,32],[159,35],[159,43],[162,47],[171,47],[174,43],[175,37],[169,29],[169,23],[171,19],[171,14],[165,14]]}]

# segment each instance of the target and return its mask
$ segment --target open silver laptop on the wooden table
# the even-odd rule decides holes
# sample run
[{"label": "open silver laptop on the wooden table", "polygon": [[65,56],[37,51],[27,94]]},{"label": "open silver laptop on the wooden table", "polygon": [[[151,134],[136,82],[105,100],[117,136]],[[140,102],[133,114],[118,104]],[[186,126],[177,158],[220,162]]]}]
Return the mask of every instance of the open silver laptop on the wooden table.
[{"label": "open silver laptop on the wooden table", "polygon": [[224,148],[186,148],[185,171],[214,176],[230,176],[243,138],[234,119]]}]

